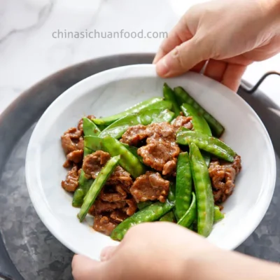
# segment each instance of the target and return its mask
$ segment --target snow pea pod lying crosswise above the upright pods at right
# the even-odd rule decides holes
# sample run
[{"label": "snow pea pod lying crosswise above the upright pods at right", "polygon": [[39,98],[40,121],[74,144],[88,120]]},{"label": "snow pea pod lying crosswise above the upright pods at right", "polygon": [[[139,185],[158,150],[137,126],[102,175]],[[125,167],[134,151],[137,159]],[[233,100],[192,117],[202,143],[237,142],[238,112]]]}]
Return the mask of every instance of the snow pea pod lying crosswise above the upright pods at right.
[{"label": "snow pea pod lying crosswise above the upright pods at right", "polygon": [[194,143],[201,150],[216,155],[217,158],[222,158],[228,162],[233,162],[236,155],[235,151],[232,151],[228,145],[219,139],[191,130],[180,129],[179,132],[177,132],[176,142],[181,145]]}]

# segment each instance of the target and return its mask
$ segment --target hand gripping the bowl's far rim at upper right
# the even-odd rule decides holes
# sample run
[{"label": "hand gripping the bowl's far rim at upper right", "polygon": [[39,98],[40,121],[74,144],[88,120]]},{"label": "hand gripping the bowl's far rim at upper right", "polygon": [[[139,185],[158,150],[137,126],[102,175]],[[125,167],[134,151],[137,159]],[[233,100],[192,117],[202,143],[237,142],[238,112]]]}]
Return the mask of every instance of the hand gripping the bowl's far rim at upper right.
[{"label": "hand gripping the bowl's far rim at upper right", "polygon": [[159,76],[192,70],[237,91],[246,66],[280,51],[279,0],[217,0],[190,8],[162,42]]}]

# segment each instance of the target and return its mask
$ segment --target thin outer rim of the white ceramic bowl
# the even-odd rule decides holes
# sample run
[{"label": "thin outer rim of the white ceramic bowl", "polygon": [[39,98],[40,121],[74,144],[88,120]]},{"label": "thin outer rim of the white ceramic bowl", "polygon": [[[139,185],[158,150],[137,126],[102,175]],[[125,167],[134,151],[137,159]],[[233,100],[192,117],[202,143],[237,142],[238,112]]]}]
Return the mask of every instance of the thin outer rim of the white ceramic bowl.
[{"label": "thin outer rim of the white ceramic bowl", "polygon": [[[40,120],[38,120],[38,123],[36,124],[36,127],[34,128],[34,132],[32,132],[31,138],[29,140],[29,144],[28,144],[28,148],[27,148],[27,157],[26,157],[26,161],[25,161],[26,162],[25,176],[26,176],[26,181],[27,181],[27,190],[29,193],[29,197],[34,206],[34,209],[36,210],[36,213],[38,214],[39,218],[41,219],[43,224],[46,226],[46,228],[48,228],[48,230],[50,230],[52,235],[54,235],[62,244],[64,244],[64,246],[69,248],[74,253],[83,253],[83,252],[80,252],[78,248],[75,248],[75,246],[73,246],[73,244],[67,242],[66,239],[64,239],[63,236],[60,235],[57,230],[55,230],[55,227],[53,227],[53,225],[52,225],[51,219],[48,219],[47,216],[45,215],[44,211],[42,210],[43,207],[41,207],[42,205],[40,202],[43,202],[43,200],[38,200],[38,198],[40,198],[40,197],[38,197],[38,195],[42,195],[42,194],[40,192],[36,194],[32,190],[33,183],[31,183],[31,181],[33,181],[33,180],[31,179],[32,172],[31,172],[31,163],[30,163],[31,162],[30,159],[32,158],[31,147],[36,144],[36,134],[40,130],[41,120],[43,118],[45,118],[45,116],[47,116],[48,112],[52,109],[52,106],[55,106],[55,104],[57,102],[59,102],[60,99],[63,99],[66,94],[69,94],[69,92],[77,92],[77,91],[84,92],[85,90],[92,89],[92,85],[90,85],[90,87],[87,86],[87,84],[92,83],[92,79],[96,80],[97,85],[103,85],[104,83],[102,83],[102,80],[104,81],[104,78],[106,80],[107,75],[116,74],[116,73],[118,73],[118,71],[121,71],[123,69],[130,70],[130,71],[126,72],[127,76],[125,76],[125,78],[133,78],[134,76],[139,76],[139,71],[142,71],[141,72],[142,74],[144,73],[143,69],[146,69],[146,71],[144,73],[145,77],[153,77],[153,76],[156,77],[155,65],[153,65],[153,64],[132,64],[132,65],[118,66],[118,67],[115,67],[112,69],[108,69],[106,71],[96,73],[83,80],[80,80],[78,83],[69,87],[68,90],[66,90],[61,95],[59,95],[59,97],[57,97],[57,99],[55,99],[54,102],[52,102],[52,104],[50,104],[50,106],[48,106],[48,109],[45,110],[45,112],[41,116]],[[193,74],[200,75],[198,73],[188,72],[188,73],[184,74],[183,76],[193,75]],[[118,76],[115,76],[115,77],[118,77]],[[212,83],[214,81],[211,78],[208,78],[206,76],[204,76],[204,78],[211,80]],[[242,232],[242,235],[239,236],[239,238],[236,239],[235,242],[231,242],[231,244],[229,244],[229,246],[226,248],[228,250],[232,250],[232,249],[237,248],[237,246],[239,246],[241,243],[243,243],[252,234],[252,232],[255,230],[255,228],[258,227],[258,225],[262,221],[262,218],[265,216],[265,214],[267,212],[269,204],[272,200],[275,183],[276,183],[276,158],[275,158],[275,154],[274,154],[274,148],[272,145],[272,141],[269,137],[267,129],[266,129],[265,125],[262,123],[262,120],[260,120],[260,117],[257,115],[257,113],[255,113],[255,111],[252,109],[252,107],[247,102],[245,102],[244,99],[242,99],[238,94],[236,94],[235,92],[230,90],[228,87],[225,87],[225,85],[222,85],[221,83],[218,83],[216,81],[214,81],[214,82],[217,83],[219,85],[219,87],[223,88],[223,91],[225,91],[225,94],[227,94],[227,92],[229,94],[235,94],[237,99],[239,99],[239,101],[244,103],[244,106],[246,106],[247,109],[249,111],[251,111],[251,113],[253,113],[253,116],[255,117],[255,119],[258,120],[258,123],[262,127],[262,130],[264,132],[264,134],[262,134],[262,136],[265,138],[265,140],[267,142],[267,148],[269,151],[269,154],[267,156],[269,157],[269,162],[271,163],[271,169],[270,169],[271,174],[269,176],[270,183],[267,184],[267,186],[269,186],[269,188],[267,188],[267,189],[269,189],[269,190],[267,190],[267,195],[265,196],[265,201],[262,201],[262,204],[261,204],[262,209],[261,209],[261,211],[258,211],[258,216],[256,216],[256,215],[254,216],[253,222],[251,222],[250,226]],[[94,85],[94,87],[95,87],[95,85]],[[76,98],[78,98],[78,94],[76,94]],[[34,143],[34,141],[35,141],[35,143]],[[264,198],[261,198],[261,200],[264,200]]]}]

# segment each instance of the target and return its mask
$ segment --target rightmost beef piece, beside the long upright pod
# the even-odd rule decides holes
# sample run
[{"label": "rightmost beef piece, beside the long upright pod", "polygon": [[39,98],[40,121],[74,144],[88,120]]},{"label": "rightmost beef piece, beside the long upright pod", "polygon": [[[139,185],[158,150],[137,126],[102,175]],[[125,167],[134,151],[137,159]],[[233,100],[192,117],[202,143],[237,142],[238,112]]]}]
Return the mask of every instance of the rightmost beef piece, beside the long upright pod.
[{"label": "rightmost beef piece, beside the long upright pod", "polygon": [[212,160],[209,166],[214,200],[216,204],[225,202],[232,195],[235,188],[235,178],[241,171],[241,158],[235,155],[235,161],[224,162],[223,160]]}]

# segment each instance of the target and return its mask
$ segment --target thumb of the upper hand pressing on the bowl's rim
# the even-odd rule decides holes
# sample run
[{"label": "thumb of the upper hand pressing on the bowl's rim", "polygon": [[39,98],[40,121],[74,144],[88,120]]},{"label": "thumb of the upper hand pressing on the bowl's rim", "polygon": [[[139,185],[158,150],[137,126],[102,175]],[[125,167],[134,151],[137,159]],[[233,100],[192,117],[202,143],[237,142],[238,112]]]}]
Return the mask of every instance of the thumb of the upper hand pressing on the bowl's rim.
[{"label": "thumb of the upper hand pressing on the bowl's rim", "polygon": [[164,78],[178,76],[209,59],[209,56],[207,44],[194,36],[162,57],[156,64],[157,73]]}]

